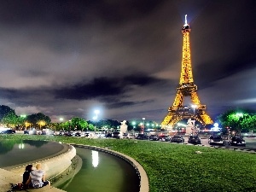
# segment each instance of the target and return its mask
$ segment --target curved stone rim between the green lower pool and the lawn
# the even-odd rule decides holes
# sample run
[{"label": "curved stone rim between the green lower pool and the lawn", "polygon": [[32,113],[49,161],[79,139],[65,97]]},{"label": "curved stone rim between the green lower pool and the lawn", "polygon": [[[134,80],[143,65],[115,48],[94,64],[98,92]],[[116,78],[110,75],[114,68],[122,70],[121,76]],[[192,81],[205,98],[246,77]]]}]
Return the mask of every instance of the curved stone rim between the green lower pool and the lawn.
[{"label": "curved stone rim between the green lower pool and the lawn", "polygon": [[104,152],[104,153],[108,153],[108,154],[117,156],[122,160],[125,160],[137,171],[137,176],[140,179],[139,192],[148,192],[149,191],[149,183],[148,183],[147,173],[143,169],[143,166],[141,166],[137,162],[137,160],[132,159],[130,156],[128,156],[126,154],[121,154],[121,153],[119,153],[117,151],[113,151],[109,148],[99,148],[99,147],[96,147],[96,146],[80,145],[80,144],[74,144],[74,143],[70,143],[70,144],[75,146],[75,147],[79,147],[79,148],[89,148],[89,149],[92,149],[92,150],[97,150],[97,151],[101,151],[101,152]]}]

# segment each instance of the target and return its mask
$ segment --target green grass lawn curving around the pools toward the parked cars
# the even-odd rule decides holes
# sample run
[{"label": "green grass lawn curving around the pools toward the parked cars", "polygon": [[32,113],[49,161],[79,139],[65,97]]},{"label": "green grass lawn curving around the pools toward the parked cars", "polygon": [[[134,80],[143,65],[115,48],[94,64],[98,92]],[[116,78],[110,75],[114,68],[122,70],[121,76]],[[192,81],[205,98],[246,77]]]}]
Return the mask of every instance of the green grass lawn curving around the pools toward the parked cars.
[{"label": "green grass lawn curving around the pools toward the parked cars", "polygon": [[[111,148],[137,160],[148,174],[150,192],[256,191],[256,154],[175,143],[10,135]],[[195,151],[201,151],[196,154]]]}]

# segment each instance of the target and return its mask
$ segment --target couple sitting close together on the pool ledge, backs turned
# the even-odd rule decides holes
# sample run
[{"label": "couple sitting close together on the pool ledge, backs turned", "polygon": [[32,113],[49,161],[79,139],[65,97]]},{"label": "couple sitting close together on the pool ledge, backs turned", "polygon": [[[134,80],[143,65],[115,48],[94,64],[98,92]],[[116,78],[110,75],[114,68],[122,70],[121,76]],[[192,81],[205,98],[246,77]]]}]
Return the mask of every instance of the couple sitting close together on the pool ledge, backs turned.
[{"label": "couple sitting close together on the pool ledge, backs turned", "polygon": [[32,169],[32,165],[26,166],[26,171],[23,173],[23,186],[28,188],[42,188],[50,185],[49,181],[45,180],[45,172],[42,170],[42,165],[38,163],[36,169]]}]

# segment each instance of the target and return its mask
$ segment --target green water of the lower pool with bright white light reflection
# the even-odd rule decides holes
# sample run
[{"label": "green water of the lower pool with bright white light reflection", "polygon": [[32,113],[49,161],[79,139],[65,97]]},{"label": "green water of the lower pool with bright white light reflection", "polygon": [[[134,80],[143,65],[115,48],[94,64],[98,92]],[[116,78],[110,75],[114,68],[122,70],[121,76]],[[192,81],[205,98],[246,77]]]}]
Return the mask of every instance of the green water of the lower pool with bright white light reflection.
[{"label": "green water of the lower pool with bright white light reflection", "polygon": [[67,192],[139,191],[137,172],[125,160],[89,148],[76,150],[83,165],[74,177],[57,188]]}]

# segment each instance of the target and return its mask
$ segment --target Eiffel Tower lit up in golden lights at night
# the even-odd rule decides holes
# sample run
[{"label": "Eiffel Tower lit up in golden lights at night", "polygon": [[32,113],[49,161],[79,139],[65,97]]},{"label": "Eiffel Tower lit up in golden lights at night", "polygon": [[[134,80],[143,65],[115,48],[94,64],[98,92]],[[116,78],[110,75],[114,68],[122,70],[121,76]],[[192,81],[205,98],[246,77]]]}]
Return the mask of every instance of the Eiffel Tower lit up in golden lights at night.
[{"label": "Eiffel Tower lit up in golden lights at night", "polygon": [[[182,70],[177,87],[177,94],[172,104],[168,108],[168,113],[161,123],[163,128],[172,127],[182,119],[195,119],[201,122],[202,125],[211,125],[212,119],[206,113],[206,105],[202,105],[196,93],[197,86],[194,84],[190,48],[189,48],[189,32],[190,27],[187,23],[187,15],[185,15],[185,24],[182,28],[183,33],[183,61]],[[184,96],[190,96],[191,107],[183,106]]]}]

